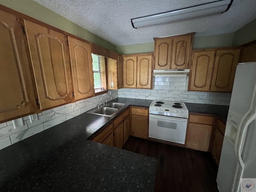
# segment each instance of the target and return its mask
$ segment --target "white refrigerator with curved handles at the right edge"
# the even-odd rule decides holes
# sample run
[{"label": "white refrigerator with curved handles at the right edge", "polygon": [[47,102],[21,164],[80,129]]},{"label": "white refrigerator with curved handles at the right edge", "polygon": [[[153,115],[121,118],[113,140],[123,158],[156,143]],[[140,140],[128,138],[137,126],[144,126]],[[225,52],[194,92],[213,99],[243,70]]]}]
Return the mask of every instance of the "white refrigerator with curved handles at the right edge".
[{"label": "white refrigerator with curved handles at the right edge", "polygon": [[256,192],[251,178],[256,178],[256,62],[236,68],[216,181],[220,192]]}]

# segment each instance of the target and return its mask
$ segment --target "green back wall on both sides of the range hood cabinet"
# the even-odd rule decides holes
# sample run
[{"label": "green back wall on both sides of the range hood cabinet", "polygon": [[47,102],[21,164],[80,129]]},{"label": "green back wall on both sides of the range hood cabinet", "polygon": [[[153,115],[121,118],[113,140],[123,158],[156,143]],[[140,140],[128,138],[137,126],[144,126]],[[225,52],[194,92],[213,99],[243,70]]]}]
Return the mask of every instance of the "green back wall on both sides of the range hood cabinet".
[{"label": "green back wall on both sides of the range hood cabinet", "polygon": [[[193,49],[207,49],[232,46],[234,33],[194,37]],[[135,45],[116,46],[119,54],[137,54],[154,52],[154,42]]]}]

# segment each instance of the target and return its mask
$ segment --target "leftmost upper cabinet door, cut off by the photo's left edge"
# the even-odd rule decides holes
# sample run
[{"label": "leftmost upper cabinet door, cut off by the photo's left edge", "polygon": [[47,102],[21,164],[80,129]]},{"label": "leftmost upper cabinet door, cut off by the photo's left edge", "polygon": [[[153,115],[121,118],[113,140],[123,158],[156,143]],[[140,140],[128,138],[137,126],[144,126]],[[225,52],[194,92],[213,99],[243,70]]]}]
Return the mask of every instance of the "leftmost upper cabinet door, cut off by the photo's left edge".
[{"label": "leftmost upper cabinet door, cut off by the photo's left edge", "polygon": [[0,122],[36,111],[22,29],[16,16],[0,10]]}]

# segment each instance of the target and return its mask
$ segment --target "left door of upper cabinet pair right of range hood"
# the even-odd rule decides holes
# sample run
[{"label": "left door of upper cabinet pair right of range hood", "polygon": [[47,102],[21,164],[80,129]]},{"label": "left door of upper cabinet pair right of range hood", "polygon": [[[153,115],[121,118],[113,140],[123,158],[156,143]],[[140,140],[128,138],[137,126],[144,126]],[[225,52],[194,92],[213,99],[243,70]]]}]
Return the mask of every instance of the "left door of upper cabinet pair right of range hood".
[{"label": "left door of upper cabinet pair right of range hood", "polygon": [[215,51],[192,53],[190,91],[209,91]]}]

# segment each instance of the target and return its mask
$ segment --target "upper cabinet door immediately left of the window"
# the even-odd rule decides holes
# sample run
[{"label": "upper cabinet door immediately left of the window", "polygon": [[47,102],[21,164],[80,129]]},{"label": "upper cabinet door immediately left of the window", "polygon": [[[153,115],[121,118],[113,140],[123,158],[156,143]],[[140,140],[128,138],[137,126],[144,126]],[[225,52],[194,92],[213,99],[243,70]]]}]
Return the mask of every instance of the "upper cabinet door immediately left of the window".
[{"label": "upper cabinet door immediately left of the window", "polygon": [[75,99],[94,96],[91,46],[68,37]]}]

